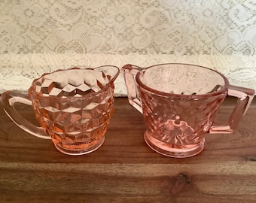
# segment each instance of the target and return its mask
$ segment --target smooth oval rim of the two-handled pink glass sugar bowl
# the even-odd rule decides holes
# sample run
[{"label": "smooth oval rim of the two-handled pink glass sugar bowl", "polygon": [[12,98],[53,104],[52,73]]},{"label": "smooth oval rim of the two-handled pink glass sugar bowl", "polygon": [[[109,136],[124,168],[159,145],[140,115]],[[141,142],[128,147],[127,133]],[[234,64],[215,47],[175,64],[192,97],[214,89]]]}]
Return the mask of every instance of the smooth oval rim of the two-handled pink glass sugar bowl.
[{"label": "smooth oval rim of the two-handled pink glass sugar bowl", "polygon": [[[191,66],[195,66],[197,68],[205,68],[209,71],[214,71],[215,73],[217,73],[219,76],[221,76],[224,80],[224,86],[221,87],[221,89],[218,89],[215,92],[209,92],[209,93],[205,93],[205,94],[199,94],[199,95],[181,95],[181,94],[176,94],[176,93],[171,93],[171,92],[163,92],[157,89],[153,89],[150,86],[145,85],[145,83],[142,82],[141,80],[141,75],[145,72],[148,71],[151,68],[155,68],[157,66],[160,65],[191,65]],[[172,67],[170,67],[172,68]],[[194,64],[189,64],[189,63],[161,63],[161,64],[157,64],[157,65],[151,65],[148,68],[143,69],[142,71],[139,71],[138,74],[136,74],[136,82],[138,83],[138,85],[142,88],[147,90],[148,92],[153,92],[155,95],[161,95],[161,96],[166,96],[166,97],[173,97],[173,98],[190,98],[190,99],[194,99],[194,98],[206,98],[209,96],[214,96],[214,95],[220,95],[224,92],[227,92],[228,86],[230,86],[229,81],[227,80],[227,77],[224,76],[224,74],[221,74],[218,71],[215,71],[212,68],[207,68],[205,66],[202,65],[194,65]]]}]

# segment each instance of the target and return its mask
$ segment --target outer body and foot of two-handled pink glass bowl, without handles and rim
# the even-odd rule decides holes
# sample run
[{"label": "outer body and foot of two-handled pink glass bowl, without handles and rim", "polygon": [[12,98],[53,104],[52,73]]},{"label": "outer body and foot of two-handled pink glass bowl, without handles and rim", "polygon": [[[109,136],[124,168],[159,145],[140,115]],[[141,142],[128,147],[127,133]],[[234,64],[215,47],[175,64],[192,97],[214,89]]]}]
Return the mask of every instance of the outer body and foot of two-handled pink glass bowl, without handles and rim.
[{"label": "outer body and foot of two-handled pink glass bowl, without handles and rim", "polygon": [[139,87],[147,144],[167,156],[200,153],[225,94],[200,99],[165,98]]}]

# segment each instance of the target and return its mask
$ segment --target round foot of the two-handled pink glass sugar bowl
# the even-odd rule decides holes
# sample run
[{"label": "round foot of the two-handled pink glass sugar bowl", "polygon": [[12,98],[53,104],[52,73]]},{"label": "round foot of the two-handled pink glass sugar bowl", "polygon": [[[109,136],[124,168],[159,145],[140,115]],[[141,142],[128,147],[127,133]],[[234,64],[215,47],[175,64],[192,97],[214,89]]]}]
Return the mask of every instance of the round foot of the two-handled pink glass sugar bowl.
[{"label": "round foot of the two-handled pink glass sugar bowl", "polygon": [[190,144],[182,148],[173,148],[172,144],[166,144],[162,141],[159,141],[156,138],[148,135],[147,132],[145,132],[144,134],[144,139],[152,150],[164,156],[169,156],[172,158],[187,158],[190,156],[195,156],[198,153],[202,152],[204,147],[206,146],[205,138],[203,138],[203,140],[198,144]]}]

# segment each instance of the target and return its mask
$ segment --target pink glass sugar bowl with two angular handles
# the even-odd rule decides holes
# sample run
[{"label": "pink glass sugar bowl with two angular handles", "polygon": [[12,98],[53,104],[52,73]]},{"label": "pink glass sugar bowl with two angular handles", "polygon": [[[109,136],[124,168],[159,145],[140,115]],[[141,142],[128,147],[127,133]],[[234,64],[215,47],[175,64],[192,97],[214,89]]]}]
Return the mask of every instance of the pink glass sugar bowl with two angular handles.
[{"label": "pink glass sugar bowl with two angular handles", "polygon": [[[145,142],[175,158],[200,153],[206,133],[233,132],[254,96],[254,89],[231,86],[224,75],[198,65],[125,65],[122,71],[129,102],[145,118]],[[238,102],[227,123],[215,125],[227,95]]]}]

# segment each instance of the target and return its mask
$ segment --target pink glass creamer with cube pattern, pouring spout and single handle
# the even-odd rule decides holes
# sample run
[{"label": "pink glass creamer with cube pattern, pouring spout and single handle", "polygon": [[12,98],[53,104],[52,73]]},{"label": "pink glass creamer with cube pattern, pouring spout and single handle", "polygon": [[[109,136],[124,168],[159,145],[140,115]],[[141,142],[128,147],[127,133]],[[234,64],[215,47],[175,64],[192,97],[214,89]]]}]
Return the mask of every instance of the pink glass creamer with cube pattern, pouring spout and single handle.
[{"label": "pink glass creamer with cube pattern, pouring spout and single handle", "polygon": [[[1,96],[2,107],[21,129],[39,138],[51,138],[69,155],[98,149],[113,113],[114,80],[119,68],[71,68],[43,74],[32,82],[29,95],[13,91]],[[26,121],[14,108],[32,105],[41,127]]]}]

